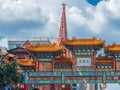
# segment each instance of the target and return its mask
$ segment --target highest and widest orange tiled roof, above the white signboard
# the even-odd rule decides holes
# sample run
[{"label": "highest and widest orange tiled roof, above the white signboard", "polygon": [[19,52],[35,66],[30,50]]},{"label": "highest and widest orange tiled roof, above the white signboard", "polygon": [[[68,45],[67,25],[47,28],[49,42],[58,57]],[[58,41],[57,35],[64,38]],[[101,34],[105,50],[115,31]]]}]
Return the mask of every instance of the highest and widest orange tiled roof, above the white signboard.
[{"label": "highest and widest orange tiled roof, above the white signboard", "polygon": [[71,46],[96,46],[96,45],[104,45],[105,41],[102,39],[97,39],[95,37],[89,39],[76,39],[75,37],[72,40],[64,41],[64,45]]}]

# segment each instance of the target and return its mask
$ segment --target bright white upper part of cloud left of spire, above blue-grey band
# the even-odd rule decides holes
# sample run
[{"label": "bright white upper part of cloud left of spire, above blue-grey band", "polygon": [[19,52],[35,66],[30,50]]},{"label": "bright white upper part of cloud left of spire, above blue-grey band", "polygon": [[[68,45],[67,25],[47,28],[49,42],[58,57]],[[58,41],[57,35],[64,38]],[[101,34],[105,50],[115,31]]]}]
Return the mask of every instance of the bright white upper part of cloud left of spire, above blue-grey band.
[{"label": "bright white upper part of cloud left of spire, above blue-grey band", "polygon": [[40,5],[33,2],[33,0],[27,1],[1,1],[0,2],[0,20],[14,22],[16,20],[35,21],[44,23],[49,20],[49,17],[45,15]]}]

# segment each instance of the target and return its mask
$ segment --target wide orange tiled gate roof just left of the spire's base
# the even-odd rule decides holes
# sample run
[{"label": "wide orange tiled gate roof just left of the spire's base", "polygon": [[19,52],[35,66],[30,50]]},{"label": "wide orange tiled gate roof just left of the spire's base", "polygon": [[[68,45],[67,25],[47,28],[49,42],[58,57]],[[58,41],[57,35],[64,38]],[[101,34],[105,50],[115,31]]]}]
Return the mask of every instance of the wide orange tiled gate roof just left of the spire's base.
[{"label": "wide orange tiled gate roof just left of the spire's base", "polygon": [[62,47],[55,44],[36,44],[35,46],[28,47],[27,50],[34,52],[57,52],[62,50]]}]

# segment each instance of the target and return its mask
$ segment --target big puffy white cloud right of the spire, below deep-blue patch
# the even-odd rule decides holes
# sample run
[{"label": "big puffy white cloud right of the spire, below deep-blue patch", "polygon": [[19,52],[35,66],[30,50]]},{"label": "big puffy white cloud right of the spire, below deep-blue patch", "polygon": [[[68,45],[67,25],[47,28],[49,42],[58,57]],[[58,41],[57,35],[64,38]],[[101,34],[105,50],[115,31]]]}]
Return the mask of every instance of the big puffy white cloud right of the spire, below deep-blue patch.
[{"label": "big puffy white cloud right of the spire, below deep-blue patch", "polygon": [[114,30],[115,26],[120,28],[115,25],[116,22],[120,24],[120,0],[101,1],[96,7],[88,4],[85,9],[71,7],[68,9],[68,22],[72,27],[85,27],[98,35],[106,29]]}]

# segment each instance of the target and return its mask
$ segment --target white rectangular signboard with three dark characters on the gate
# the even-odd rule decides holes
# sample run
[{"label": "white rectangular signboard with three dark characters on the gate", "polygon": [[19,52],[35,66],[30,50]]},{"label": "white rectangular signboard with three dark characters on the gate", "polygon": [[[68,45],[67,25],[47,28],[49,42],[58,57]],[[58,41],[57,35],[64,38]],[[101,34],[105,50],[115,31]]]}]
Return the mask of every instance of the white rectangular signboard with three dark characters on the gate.
[{"label": "white rectangular signboard with three dark characters on the gate", "polygon": [[91,58],[77,58],[77,66],[91,66]]}]

